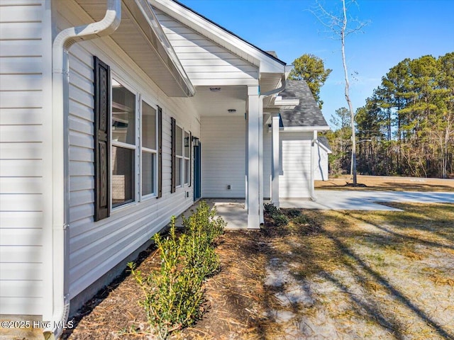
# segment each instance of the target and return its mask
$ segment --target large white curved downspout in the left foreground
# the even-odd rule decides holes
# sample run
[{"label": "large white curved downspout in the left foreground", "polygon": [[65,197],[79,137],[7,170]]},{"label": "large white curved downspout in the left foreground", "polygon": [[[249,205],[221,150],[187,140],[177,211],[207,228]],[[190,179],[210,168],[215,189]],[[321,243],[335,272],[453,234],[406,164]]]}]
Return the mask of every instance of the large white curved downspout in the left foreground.
[{"label": "large white curved downspout in the left foreground", "polygon": [[121,0],[108,0],[101,21],[66,28],[52,45],[52,319],[45,339],[58,339],[70,312],[69,295],[69,137],[68,50],[74,43],[110,35],[120,26]]}]

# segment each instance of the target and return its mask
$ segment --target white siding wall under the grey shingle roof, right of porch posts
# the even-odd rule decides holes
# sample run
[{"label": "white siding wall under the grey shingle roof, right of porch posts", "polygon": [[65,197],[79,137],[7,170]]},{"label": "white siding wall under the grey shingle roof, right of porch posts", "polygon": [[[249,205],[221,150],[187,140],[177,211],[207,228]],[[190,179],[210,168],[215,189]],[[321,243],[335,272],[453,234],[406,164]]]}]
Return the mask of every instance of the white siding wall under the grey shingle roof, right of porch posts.
[{"label": "white siding wall under the grey shingle roof, right of porch posts", "polygon": [[281,132],[282,150],[279,197],[311,197],[311,133]]}]

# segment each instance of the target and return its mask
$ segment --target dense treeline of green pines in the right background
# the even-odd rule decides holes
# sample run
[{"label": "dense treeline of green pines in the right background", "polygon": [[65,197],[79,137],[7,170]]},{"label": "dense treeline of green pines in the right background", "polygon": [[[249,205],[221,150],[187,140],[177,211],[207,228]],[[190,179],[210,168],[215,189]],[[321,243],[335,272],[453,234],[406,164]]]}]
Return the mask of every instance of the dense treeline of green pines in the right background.
[{"label": "dense treeline of green pines in the right background", "polygon": [[[331,173],[350,173],[347,109],[331,123]],[[454,52],[392,67],[356,111],[355,126],[359,174],[454,177]]]}]

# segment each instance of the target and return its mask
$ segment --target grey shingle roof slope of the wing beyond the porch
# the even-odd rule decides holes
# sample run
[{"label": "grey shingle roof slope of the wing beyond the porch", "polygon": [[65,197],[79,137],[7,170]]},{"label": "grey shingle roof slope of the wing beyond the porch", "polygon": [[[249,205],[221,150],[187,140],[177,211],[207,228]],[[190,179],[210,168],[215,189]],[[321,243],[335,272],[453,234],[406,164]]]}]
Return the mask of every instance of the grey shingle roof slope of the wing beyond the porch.
[{"label": "grey shingle roof slope of the wing beyond the porch", "polygon": [[287,80],[284,91],[279,93],[283,101],[299,100],[291,109],[280,111],[284,130],[329,130],[311,89],[303,80]]}]

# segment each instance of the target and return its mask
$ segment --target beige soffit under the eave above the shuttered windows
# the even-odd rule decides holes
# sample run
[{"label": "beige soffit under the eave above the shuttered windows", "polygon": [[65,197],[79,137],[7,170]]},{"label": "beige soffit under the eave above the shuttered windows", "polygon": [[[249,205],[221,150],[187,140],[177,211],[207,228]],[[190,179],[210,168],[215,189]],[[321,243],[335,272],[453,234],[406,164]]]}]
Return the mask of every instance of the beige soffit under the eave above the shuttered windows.
[{"label": "beige soffit under the eave above the shuttered windows", "polygon": [[[106,0],[76,0],[94,21],[100,21],[106,13]],[[153,25],[153,13],[143,14],[143,6],[136,1],[122,1],[121,23],[110,37],[131,59],[155,81],[162,91],[171,97],[187,97],[194,94],[194,87],[177,58],[172,57],[172,47],[162,28]],[[142,8],[140,8],[142,6]]]}]

